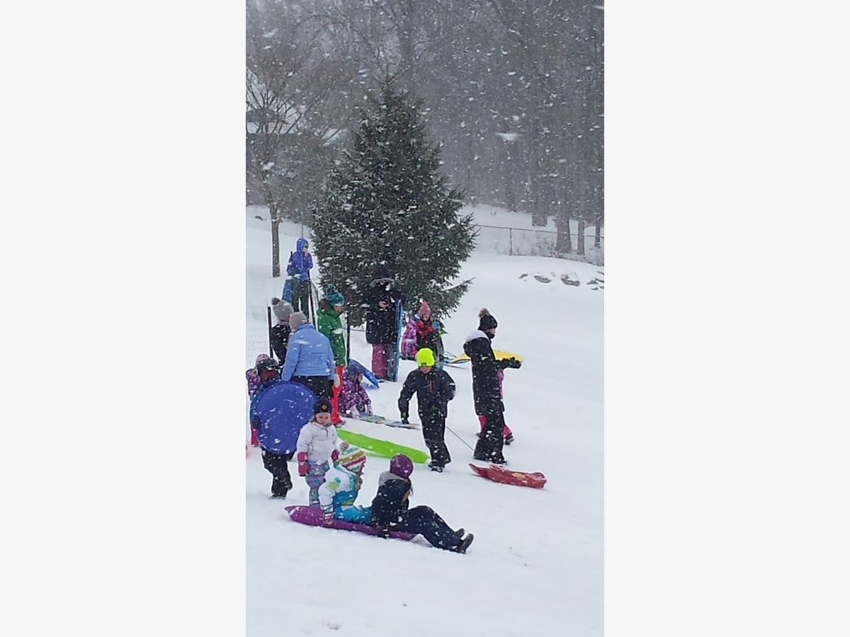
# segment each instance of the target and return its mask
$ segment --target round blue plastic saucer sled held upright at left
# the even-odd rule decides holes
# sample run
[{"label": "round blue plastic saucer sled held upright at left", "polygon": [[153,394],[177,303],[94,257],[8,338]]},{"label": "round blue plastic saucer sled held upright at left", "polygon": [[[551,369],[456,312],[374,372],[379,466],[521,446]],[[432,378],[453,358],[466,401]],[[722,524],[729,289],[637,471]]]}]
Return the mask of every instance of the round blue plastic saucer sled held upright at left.
[{"label": "round blue plastic saucer sled held upright at left", "polygon": [[301,383],[280,381],[260,390],[251,403],[251,416],[259,416],[258,439],[277,454],[295,451],[298,433],[313,417],[316,397]]}]

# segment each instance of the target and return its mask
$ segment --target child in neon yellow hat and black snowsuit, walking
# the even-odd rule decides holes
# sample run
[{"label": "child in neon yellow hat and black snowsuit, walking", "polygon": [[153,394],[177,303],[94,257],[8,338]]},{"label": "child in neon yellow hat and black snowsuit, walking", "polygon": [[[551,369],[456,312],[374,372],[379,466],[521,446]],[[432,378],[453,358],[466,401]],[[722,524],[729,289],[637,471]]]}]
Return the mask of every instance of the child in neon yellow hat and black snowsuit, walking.
[{"label": "child in neon yellow hat and black snowsuit, walking", "polygon": [[442,369],[433,366],[433,352],[425,347],[416,352],[414,369],[405,379],[399,394],[401,421],[408,424],[408,405],[416,393],[419,418],[422,420],[422,437],[431,452],[431,471],[443,471],[451,462],[449,448],[445,446],[445,417],[449,413],[449,401],[455,397],[455,381]]}]

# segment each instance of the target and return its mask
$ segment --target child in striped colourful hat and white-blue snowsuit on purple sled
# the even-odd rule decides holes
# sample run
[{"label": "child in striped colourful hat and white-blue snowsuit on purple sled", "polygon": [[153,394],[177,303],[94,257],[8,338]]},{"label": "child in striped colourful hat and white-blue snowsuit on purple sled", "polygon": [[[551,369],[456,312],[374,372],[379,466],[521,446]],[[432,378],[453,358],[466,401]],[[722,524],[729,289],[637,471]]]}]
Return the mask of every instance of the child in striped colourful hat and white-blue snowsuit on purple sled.
[{"label": "child in striped colourful hat and white-blue snowsuit on purple sled", "polygon": [[325,482],[319,488],[319,504],[326,521],[335,518],[360,524],[371,522],[371,507],[354,505],[363,485],[365,464],[363,449],[344,440],[340,443],[339,459],[325,474]]}]

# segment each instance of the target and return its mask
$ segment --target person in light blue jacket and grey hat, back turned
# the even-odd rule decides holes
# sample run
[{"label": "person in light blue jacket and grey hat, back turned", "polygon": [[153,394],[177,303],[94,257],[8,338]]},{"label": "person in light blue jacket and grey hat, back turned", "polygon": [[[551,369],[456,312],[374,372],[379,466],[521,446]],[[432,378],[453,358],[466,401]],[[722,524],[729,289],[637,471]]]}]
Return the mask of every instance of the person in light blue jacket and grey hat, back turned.
[{"label": "person in light blue jacket and grey hat, back turned", "polygon": [[301,383],[320,397],[331,398],[331,390],[339,384],[333,360],[331,341],[307,322],[303,312],[293,312],[289,317],[289,345],[280,378]]}]

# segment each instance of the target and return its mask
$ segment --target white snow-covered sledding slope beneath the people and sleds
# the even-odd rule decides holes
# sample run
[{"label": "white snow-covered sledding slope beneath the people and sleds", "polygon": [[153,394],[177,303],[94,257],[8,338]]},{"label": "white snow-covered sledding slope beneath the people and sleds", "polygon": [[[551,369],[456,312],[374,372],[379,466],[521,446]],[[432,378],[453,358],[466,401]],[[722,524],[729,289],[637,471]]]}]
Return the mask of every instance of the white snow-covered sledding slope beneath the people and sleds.
[{"label": "white snow-covered sledding slope beneath the people and sleds", "polygon": [[[270,276],[269,223],[246,214],[246,367],[267,351],[266,306],[280,296]],[[299,228],[281,228],[281,255]],[[289,234],[284,234],[289,233]],[[326,634],[443,634],[528,637],[603,633],[603,305],[598,266],[535,256],[475,251],[462,268],[471,290],[446,318],[445,347],[461,353],[478,311],[499,321],[494,347],[519,352],[507,369],[506,421],[516,442],[509,466],[542,471],[542,490],[473,475],[469,446],[479,424],[469,369],[447,367],[457,395],[449,405],[442,474],[416,465],[411,505],[430,505],[453,527],[475,534],[467,555],[360,533],[304,527],[285,505],[306,504],[307,485],[285,502],[269,500],[270,475],[258,450],[246,459],[246,612],[249,637]],[[544,283],[535,278],[551,279]],[[564,285],[568,274],[581,285]],[[525,276],[523,276],[525,275]],[[368,364],[371,347],[352,332],[352,357]],[[413,369],[401,361],[400,378]],[[371,390],[377,414],[397,416],[399,383]],[[414,398],[414,402],[415,402]],[[411,405],[411,411],[413,405]],[[426,449],[422,434],[348,420],[347,428]],[[247,435],[247,424],[246,424]],[[388,460],[370,456],[361,505],[368,505]]]}]

